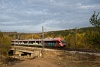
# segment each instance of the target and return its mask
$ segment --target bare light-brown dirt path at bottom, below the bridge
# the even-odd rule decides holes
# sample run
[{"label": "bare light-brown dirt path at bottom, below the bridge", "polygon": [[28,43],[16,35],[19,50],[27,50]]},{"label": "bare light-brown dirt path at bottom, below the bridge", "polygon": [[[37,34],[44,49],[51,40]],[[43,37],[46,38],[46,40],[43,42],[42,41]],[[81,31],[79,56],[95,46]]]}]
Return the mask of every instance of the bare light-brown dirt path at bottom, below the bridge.
[{"label": "bare light-brown dirt path at bottom, below the bridge", "polygon": [[31,60],[25,60],[14,65],[6,67],[59,67],[58,65],[51,62],[50,59],[36,58]]}]

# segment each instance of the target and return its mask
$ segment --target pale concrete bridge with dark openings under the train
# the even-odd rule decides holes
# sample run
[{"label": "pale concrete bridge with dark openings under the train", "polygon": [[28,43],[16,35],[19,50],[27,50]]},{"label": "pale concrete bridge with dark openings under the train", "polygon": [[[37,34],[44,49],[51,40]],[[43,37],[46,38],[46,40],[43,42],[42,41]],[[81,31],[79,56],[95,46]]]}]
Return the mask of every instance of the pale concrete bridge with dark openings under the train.
[{"label": "pale concrete bridge with dark openings under the train", "polygon": [[27,46],[12,46],[10,51],[13,57],[27,57],[34,58],[42,56],[43,48],[27,47]]}]

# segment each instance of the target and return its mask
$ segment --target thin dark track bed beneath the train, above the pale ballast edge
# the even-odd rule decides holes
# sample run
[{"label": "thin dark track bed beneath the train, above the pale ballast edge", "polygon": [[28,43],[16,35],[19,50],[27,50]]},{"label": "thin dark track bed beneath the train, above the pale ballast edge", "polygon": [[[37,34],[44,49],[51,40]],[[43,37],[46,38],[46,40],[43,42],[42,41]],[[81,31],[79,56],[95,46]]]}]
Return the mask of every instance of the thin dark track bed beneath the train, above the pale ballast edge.
[{"label": "thin dark track bed beneath the train, above the pale ballast edge", "polygon": [[65,50],[65,51],[80,51],[80,52],[89,52],[89,53],[100,53],[100,50],[95,49],[78,49],[78,48],[66,48],[66,47],[31,47],[31,46],[14,46],[14,47],[25,47],[25,48],[39,48],[39,49],[54,49],[54,50]]}]

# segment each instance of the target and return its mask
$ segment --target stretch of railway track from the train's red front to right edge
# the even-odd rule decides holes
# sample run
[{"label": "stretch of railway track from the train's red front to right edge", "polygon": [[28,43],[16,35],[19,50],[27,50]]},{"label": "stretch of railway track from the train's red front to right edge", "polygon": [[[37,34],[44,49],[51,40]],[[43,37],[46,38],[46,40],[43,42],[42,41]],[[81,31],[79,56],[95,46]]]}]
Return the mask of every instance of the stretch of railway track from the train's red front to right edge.
[{"label": "stretch of railway track from the train's red front to right edge", "polygon": [[84,54],[84,55],[91,55],[91,56],[99,56],[100,57],[100,50],[90,50],[90,49],[72,49],[72,48],[64,48],[58,49],[63,50],[65,53],[70,54]]}]

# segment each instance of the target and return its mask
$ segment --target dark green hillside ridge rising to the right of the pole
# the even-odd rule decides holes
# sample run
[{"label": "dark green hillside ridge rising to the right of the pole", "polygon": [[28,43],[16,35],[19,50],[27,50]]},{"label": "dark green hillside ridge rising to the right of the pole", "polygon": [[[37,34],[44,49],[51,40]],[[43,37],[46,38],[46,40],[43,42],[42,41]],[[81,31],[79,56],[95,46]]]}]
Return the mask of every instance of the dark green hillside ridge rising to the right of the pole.
[{"label": "dark green hillside ridge rising to the right of the pole", "polygon": [[[87,31],[95,31],[95,27],[84,27],[84,28],[77,29],[77,33],[84,33]],[[59,37],[59,35],[67,36],[68,34],[70,33],[74,34],[75,32],[76,32],[76,29],[50,31],[50,32],[46,32],[46,36],[54,36],[54,37]]]}]

